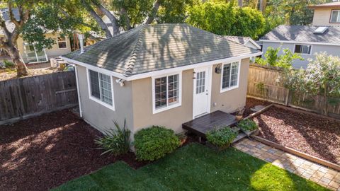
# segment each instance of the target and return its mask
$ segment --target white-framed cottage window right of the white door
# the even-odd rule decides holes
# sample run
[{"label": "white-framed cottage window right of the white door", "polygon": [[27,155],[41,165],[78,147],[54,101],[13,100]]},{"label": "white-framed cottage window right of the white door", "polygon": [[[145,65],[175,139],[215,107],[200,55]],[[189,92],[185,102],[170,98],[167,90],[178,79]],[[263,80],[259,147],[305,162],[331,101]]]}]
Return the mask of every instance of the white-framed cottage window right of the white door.
[{"label": "white-framed cottage window right of the white door", "polygon": [[239,87],[239,62],[223,64],[221,92]]}]

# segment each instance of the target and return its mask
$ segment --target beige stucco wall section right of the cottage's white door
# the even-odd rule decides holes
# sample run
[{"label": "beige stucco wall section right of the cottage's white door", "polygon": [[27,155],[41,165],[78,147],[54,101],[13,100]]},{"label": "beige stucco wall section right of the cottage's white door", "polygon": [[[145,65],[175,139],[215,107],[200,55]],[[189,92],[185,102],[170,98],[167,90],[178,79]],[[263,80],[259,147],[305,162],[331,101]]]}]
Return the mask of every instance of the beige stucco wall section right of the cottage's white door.
[{"label": "beige stucco wall section right of the cottage's white door", "polygon": [[[212,69],[215,69],[214,65]],[[246,105],[246,88],[249,71],[249,59],[242,59],[239,71],[239,88],[220,93],[221,75],[212,72],[211,112],[222,110],[234,112]],[[215,104],[214,104],[215,103]],[[215,105],[215,106],[214,106]]]}]

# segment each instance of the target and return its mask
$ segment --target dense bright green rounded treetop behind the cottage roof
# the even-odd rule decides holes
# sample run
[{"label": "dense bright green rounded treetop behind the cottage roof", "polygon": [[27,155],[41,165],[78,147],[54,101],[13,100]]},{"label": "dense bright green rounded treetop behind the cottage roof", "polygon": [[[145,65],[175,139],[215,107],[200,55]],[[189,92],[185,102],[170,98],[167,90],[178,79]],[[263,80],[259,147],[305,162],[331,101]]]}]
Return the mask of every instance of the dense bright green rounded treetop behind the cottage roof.
[{"label": "dense bright green rounded treetop behind the cottage roof", "polygon": [[234,4],[210,2],[188,8],[187,23],[217,35],[237,35],[258,38],[266,23],[262,13]]}]

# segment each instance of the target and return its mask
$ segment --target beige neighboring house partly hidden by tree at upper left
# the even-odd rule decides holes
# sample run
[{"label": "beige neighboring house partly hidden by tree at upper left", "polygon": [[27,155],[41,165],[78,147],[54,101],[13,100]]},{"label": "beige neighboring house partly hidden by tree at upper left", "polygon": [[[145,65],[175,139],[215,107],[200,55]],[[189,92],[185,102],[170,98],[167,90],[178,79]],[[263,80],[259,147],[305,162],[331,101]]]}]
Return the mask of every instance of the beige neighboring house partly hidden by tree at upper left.
[{"label": "beige neighboring house partly hidden by tree at upper left", "polygon": [[[19,20],[19,11],[18,8],[13,8],[13,15],[14,17]],[[1,8],[1,14],[6,22],[6,27],[9,31],[14,30],[14,24],[11,23],[8,9]],[[4,31],[0,30],[0,38],[4,38]],[[55,44],[52,45],[52,48],[37,51],[34,45],[30,45],[24,42],[23,38],[20,36],[17,40],[17,47],[20,52],[21,58],[25,63],[36,63],[36,62],[47,62],[48,59],[54,57],[60,57],[62,54],[67,54],[71,52],[71,45],[69,42],[69,37],[64,36],[62,37],[60,33],[47,33],[46,37],[52,37],[55,40]],[[1,51],[0,60],[4,59],[11,59],[8,54],[2,50]]]}]

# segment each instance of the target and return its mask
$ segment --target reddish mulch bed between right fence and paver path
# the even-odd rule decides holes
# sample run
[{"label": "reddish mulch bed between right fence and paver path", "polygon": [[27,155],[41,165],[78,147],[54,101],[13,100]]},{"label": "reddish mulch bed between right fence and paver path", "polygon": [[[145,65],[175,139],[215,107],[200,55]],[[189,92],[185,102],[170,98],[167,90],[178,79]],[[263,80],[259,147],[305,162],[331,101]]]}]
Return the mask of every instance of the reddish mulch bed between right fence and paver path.
[{"label": "reddish mulch bed between right fence and paver path", "polygon": [[270,141],[340,165],[340,122],[281,108],[254,117]]}]

